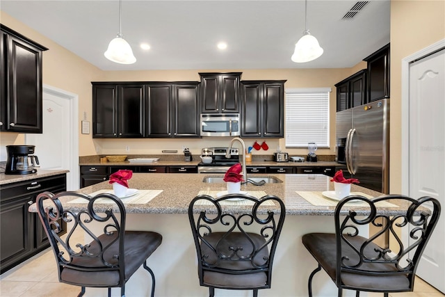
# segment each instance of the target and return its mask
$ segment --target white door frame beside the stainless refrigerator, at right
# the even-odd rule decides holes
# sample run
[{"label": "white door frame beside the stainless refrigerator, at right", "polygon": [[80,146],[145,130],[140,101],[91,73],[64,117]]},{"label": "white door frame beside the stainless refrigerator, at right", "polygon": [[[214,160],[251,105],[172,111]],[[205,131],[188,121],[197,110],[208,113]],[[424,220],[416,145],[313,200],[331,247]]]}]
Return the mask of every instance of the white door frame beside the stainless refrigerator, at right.
[{"label": "white door frame beside the stainless refrigerator, at right", "polygon": [[[402,59],[402,137],[401,137],[401,182],[402,194],[410,194],[410,63],[419,60],[425,56],[433,54],[435,51],[445,47],[445,39],[439,40],[432,45],[416,51],[414,54]],[[406,242],[406,241],[405,241]]]}]

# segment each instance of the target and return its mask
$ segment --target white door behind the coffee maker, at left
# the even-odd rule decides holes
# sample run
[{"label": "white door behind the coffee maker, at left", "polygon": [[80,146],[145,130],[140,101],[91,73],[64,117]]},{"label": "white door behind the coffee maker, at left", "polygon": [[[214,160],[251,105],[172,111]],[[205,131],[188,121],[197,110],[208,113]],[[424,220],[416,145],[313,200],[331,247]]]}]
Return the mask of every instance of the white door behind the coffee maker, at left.
[{"label": "white door behind the coffee maker, at left", "polygon": [[79,149],[76,96],[44,86],[43,133],[26,134],[26,144],[35,145],[41,169],[70,170],[67,190],[79,188]]}]

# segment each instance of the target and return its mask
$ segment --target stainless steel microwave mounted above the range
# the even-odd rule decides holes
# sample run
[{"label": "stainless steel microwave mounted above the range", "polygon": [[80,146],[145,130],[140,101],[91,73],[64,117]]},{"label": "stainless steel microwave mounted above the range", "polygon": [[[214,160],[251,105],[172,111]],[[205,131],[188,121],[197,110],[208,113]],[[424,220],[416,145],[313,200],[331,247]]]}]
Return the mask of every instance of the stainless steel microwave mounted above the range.
[{"label": "stainless steel microwave mounted above the range", "polygon": [[239,136],[239,113],[202,113],[201,136]]}]

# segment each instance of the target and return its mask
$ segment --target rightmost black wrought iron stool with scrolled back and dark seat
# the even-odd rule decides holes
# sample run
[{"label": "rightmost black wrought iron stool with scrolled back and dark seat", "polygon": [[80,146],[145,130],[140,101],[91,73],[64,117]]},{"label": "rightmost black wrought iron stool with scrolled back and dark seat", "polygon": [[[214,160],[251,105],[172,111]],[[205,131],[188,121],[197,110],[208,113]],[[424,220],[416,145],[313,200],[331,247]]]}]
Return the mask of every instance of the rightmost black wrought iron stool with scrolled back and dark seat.
[{"label": "rightmost black wrought iron stool with scrolled back and dark seat", "polygon": [[[357,214],[358,207],[354,210],[357,200],[369,207],[366,215]],[[406,207],[406,211],[389,216],[378,210],[379,202],[397,202],[393,204]],[[335,234],[303,236],[303,243],[319,264],[309,277],[309,296],[312,296],[312,277],[321,268],[330,274],[339,288],[339,296],[341,289],[354,289],[357,296],[359,291],[382,292],[385,296],[388,292],[412,291],[416,268],[440,211],[439,202],[430,197],[415,200],[403,195],[382,195],[369,200],[361,195],[350,195],[343,198],[335,209]],[[360,236],[360,226],[365,225],[373,225],[377,231]],[[405,232],[410,237],[409,246],[404,246],[401,238]],[[389,238],[389,246],[381,243],[385,238]],[[334,250],[334,254],[316,252],[321,246],[320,239],[325,241],[323,248]],[[328,257],[326,255],[334,255],[334,267],[321,264]]]}]

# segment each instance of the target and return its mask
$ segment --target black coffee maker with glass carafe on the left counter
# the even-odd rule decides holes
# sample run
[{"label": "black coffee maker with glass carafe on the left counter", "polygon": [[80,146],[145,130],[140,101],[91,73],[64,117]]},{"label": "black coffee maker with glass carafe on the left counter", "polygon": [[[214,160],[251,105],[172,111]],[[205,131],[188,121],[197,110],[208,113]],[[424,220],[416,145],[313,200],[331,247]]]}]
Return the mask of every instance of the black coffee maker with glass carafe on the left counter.
[{"label": "black coffee maker with glass carafe on the left counter", "polygon": [[37,172],[39,159],[34,156],[35,145],[6,145],[6,175],[27,175]]}]

